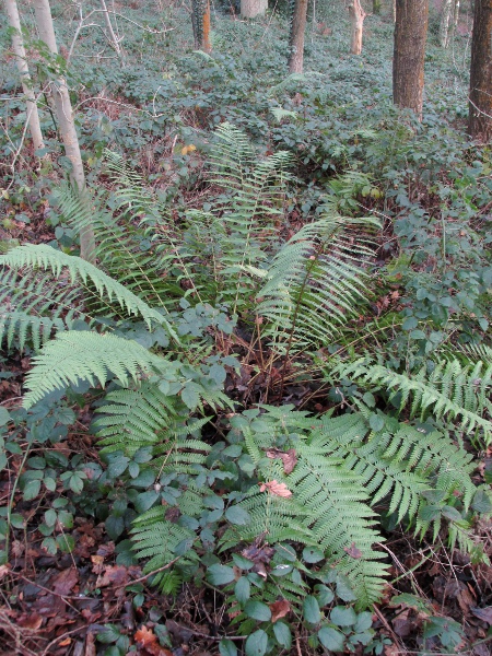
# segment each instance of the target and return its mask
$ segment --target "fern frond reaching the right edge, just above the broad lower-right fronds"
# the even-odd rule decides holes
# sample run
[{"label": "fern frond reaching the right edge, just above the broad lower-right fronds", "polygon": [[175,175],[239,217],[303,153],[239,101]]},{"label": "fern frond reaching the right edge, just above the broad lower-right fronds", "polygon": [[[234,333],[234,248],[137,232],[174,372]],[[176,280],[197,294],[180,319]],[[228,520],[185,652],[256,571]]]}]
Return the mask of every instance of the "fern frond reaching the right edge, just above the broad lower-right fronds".
[{"label": "fern frond reaching the right edge, just above the broad lower-right fronds", "polygon": [[432,414],[437,420],[452,419],[462,431],[480,429],[485,443],[492,440],[490,387],[492,365],[482,362],[462,366],[457,360],[441,361],[429,374],[422,367],[410,376],[396,373],[371,359],[361,358],[342,363],[330,374],[350,378],[372,389],[388,389],[390,400],[398,402],[400,412],[410,402],[410,417],[421,420]]}]

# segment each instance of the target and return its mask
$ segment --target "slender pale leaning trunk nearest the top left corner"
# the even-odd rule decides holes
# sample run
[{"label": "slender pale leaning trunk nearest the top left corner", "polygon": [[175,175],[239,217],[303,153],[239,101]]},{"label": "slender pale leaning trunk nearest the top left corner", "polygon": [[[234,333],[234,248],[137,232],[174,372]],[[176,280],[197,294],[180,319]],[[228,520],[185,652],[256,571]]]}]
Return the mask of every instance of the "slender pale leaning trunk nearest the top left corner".
[{"label": "slender pale leaning trunk nearest the top left corner", "polygon": [[27,67],[27,59],[25,56],[24,44],[22,40],[21,32],[21,20],[19,17],[19,10],[15,0],[5,0],[7,17],[9,26],[13,27],[15,32],[12,32],[12,49],[15,55],[15,61],[17,70],[21,75],[22,91],[26,97],[26,116],[27,125],[30,127],[31,137],[34,143],[34,150],[37,151],[45,148],[43,141],[43,133],[39,125],[39,114],[37,112],[36,98],[32,89],[32,81],[30,70]]}]

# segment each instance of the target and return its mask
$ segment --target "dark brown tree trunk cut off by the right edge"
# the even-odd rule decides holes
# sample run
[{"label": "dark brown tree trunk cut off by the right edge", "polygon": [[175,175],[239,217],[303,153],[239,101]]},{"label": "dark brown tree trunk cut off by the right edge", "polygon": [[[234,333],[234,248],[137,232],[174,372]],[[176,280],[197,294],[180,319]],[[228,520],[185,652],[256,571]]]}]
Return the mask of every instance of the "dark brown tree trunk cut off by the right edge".
[{"label": "dark brown tree trunk cut off by the right edge", "polygon": [[492,141],[492,0],[475,0],[468,131]]}]

